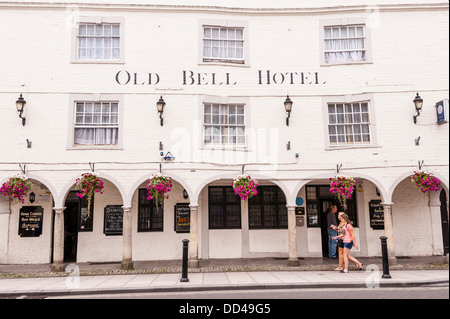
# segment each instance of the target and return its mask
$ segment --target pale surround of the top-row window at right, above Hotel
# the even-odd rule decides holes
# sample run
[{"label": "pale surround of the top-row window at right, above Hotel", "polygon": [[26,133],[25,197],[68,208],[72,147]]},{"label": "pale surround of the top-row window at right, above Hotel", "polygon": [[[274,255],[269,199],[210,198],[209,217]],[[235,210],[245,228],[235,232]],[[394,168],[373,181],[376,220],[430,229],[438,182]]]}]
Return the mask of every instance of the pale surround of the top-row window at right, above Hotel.
[{"label": "pale surround of the top-row window at right, above Hotel", "polygon": [[[362,26],[364,30],[364,51],[365,51],[365,59],[364,61],[349,61],[349,62],[336,62],[336,63],[327,63],[325,60],[325,53],[328,52],[325,50],[325,28],[343,28],[343,27],[353,27],[353,26]],[[333,66],[333,65],[347,65],[347,64],[370,64],[372,61],[372,35],[370,27],[368,27],[368,23],[366,18],[349,18],[349,19],[331,19],[331,20],[320,20],[319,22],[319,43],[320,43],[320,65],[321,66]],[[339,50],[339,52],[343,52],[345,50]],[[349,50],[355,51],[355,50]]]}]

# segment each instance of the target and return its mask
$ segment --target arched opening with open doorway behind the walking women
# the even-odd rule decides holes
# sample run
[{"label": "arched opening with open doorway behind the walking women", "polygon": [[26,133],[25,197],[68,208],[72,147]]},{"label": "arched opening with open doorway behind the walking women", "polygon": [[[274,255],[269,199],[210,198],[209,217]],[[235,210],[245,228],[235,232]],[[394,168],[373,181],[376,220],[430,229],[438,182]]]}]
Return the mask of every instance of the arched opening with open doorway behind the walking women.
[{"label": "arched opening with open doorway behind the walking women", "polygon": [[[358,183],[347,199],[346,208],[340,204],[337,197],[330,192],[330,180],[318,176],[315,179],[301,184],[297,188],[296,204],[299,209],[297,218],[301,220],[297,224],[298,250],[300,256],[330,257],[333,255],[333,242],[330,240],[328,227],[330,224],[339,224],[337,216],[327,218],[328,209],[337,206],[337,213],[346,212],[354,225],[354,233],[359,245],[355,254],[379,255],[379,237],[383,235],[382,211],[383,194],[379,184],[372,179],[355,178]],[[376,214],[370,205],[377,207]],[[374,207],[375,207],[374,206]],[[381,228],[380,228],[381,227]],[[330,232],[332,233],[332,232]],[[331,236],[332,239],[332,236]],[[331,252],[330,252],[331,250]]]}]

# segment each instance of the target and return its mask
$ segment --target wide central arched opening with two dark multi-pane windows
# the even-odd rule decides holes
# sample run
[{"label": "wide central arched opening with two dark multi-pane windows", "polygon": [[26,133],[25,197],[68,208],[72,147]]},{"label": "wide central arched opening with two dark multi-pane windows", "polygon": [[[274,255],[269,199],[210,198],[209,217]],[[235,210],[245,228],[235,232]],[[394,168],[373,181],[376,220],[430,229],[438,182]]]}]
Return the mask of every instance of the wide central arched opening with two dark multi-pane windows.
[{"label": "wide central arched opening with two dark multi-pane windows", "polygon": [[258,194],[242,201],[233,177],[217,176],[199,190],[201,258],[287,257],[287,198],[275,182],[258,178]]}]

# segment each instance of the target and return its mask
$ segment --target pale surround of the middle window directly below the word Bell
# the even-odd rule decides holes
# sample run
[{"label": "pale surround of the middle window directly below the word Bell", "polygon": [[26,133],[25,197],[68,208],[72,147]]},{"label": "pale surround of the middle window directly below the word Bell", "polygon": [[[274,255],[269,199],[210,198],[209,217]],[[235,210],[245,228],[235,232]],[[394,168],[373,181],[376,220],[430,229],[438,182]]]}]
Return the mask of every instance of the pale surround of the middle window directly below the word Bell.
[{"label": "pale surround of the middle window directly below the word Bell", "polygon": [[[243,144],[230,144],[230,143],[205,143],[205,105],[239,105],[244,107],[244,137],[245,142]],[[222,96],[203,96],[199,101],[199,114],[201,114],[201,134],[200,145],[202,149],[225,149],[225,150],[248,150],[250,145],[250,114],[249,114],[249,98],[246,97],[222,97]],[[207,124],[209,125],[209,124]],[[211,125],[214,125],[211,123]]]}]

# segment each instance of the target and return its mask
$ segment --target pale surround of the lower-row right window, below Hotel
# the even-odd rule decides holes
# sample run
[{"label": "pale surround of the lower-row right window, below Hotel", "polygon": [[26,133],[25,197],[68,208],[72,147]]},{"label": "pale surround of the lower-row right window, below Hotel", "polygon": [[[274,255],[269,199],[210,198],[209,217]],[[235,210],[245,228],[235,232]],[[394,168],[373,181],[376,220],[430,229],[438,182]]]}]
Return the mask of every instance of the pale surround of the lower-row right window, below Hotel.
[{"label": "pale surround of the lower-row right window, below Hotel", "polygon": [[[329,133],[329,113],[328,106],[330,104],[353,104],[353,103],[367,103],[369,112],[369,133],[370,133],[370,143],[352,143],[352,144],[331,144],[330,133]],[[377,141],[377,125],[375,118],[375,107],[374,98],[372,94],[357,94],[357,95],[340,95],[340,96],[328,96],[322,99],[323,108],[323,127],[324,127],[324,144],[325,150],[336,150],[336,149],[348,149],[348,148],[374,148],[379,147]],[[331,123],[333,124],[333,123]],[[345,124],[343,124],[345,125]],[[353,125],[353,124],[349,124]]]}]

